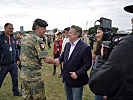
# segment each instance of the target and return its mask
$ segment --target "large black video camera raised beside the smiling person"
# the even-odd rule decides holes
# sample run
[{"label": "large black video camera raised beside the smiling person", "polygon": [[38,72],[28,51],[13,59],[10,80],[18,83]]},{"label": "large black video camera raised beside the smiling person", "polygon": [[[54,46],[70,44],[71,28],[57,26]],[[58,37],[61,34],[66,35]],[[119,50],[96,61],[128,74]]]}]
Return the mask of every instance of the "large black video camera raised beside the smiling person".
[{"label": "large black video camera raised beside the smiling person", "polygon": [[107,60],[112,49],[120,42],[120,37],[123,35],[125,36],[125,34],[115,34],[112,30],[112,20],[110,19],[101,17],[100,20],[97,21],[100,22],[100,29],[103,31],[101,40],[101,44],[104,44],[103,59]]}]

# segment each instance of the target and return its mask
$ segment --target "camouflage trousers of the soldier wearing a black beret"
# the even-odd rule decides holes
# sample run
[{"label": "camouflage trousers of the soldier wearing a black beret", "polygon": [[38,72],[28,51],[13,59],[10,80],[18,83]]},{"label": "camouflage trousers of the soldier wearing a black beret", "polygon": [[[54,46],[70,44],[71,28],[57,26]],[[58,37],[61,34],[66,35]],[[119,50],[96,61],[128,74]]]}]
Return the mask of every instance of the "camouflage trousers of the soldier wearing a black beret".
[{"label": "camouflage trousers of the soldier wearing a black beret", "polygon": [[46,100],[43,81],[33,82],[21,79],[21,83],[24,100]]}]

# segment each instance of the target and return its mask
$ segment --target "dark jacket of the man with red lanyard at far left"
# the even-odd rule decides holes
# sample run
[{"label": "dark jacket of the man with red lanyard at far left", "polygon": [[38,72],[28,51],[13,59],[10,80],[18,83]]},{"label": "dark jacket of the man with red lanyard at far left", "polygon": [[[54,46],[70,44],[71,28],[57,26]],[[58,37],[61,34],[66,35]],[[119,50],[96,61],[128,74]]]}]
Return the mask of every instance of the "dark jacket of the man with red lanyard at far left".
[{"label": "dark jacket of the man with red lanyard at far left", "polygon": [[9,38],[4,32],[0,34],[0,65],[7,65],[20,61],[19,52],[16,45],[16,39],[10,35],[10,42],[12,51],[9,50]]}]

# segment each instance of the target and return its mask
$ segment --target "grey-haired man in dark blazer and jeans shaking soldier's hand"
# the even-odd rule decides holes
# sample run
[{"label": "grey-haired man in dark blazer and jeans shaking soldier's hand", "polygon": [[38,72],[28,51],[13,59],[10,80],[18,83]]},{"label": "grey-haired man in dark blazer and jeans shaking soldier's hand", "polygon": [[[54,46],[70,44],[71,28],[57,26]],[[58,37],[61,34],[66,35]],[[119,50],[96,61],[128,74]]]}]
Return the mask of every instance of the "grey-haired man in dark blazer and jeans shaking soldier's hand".
[{"label": "grey-haired man in dark blazer and jeans shaking soldier's hand", "polygon": [[64,52],[56,59],[63,64],[63,82],[67,100],[82,100],[83,86],[88,83],[87,71],[91,67],[91,48],[80,37],[82,29],[72,25],[69,31],[70,42]]}]

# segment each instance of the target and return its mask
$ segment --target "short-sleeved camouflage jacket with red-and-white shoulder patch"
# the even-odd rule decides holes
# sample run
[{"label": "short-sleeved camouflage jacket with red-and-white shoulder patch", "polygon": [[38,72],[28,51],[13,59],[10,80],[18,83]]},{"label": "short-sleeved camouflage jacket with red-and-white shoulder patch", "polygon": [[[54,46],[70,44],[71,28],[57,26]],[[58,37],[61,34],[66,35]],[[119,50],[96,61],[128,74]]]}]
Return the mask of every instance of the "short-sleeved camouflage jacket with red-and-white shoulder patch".
[{"label": "short-sleeved camouflage jacket with red-and-white shoulder patch", "polygon": [[41,59],[47,55],[44,42],[36,33],[25,36],[21,47],[21,78],[27,81],[37,80],[41,76]]}]

